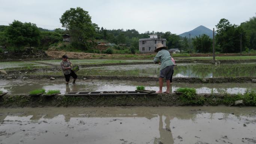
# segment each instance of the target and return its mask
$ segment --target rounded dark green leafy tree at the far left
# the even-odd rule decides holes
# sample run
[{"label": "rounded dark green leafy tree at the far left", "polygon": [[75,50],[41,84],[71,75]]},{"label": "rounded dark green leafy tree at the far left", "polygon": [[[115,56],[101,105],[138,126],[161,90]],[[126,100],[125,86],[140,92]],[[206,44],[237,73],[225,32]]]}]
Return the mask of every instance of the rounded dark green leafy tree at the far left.
[{"label": "rounded dark green leafy tree at the far left", "polygon": [[31,46],[38,46],[40,43],[40,31],[36,24],[30,22],[22,23],[15,20],[6,28],[5,34],[7,42],[17,46],[18,50],[21,46],[29,45],[31,48]]}]

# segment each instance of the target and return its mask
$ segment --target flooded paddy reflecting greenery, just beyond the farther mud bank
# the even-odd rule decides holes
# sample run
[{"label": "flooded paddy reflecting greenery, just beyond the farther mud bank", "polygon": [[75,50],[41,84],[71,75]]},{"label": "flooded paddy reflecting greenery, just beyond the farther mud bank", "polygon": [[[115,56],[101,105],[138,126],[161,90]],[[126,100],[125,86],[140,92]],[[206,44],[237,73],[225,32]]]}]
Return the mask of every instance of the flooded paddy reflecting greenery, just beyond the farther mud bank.
[{"label": "flooded paddy reflecting greenery, just beyond the farther mud bank", "polygon": [[[156,64],[115,65],[104,67],[83,67],[79,75],[108,75],[108,76],[152,76],[158,77],[160,66]],[[173,77],[237,77],[256,76],[256,63],[248,64],[178,64],[174,67]],[[40,71],[39,74],[42,74]],[[62,74],[59,72],[43,72],[43,74]]]}]

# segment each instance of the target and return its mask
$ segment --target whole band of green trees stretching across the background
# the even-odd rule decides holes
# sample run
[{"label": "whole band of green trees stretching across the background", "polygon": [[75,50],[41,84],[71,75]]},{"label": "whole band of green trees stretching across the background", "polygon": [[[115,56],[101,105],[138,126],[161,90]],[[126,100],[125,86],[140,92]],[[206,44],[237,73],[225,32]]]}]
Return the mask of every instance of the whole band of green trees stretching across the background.
[{"label": "whole band of green trees stretching across the background", "polygon": [[[55,30],[46,30],[38,28],[36,24],[30,22],[22,23],[14,20],[9,26],[0,26],[0,46],[6,46],[7,49],[20,51],[24,47],[37,47],[47,50],[55,46],[57,49],[68,51],[96,52],[98,41],[112,43],[106,53],[135,53],[138,52],[138,40],[147,38],[151,34],[161,34],[162,38],[167,40],[167,47],[179,48],[183,52],[212,52],[212,39],[203,34],[192,39],[180,37],[170,31],[163,32],[145,32],[139,33],[137,30],[107,30],[98,27],[91,21],[91,16],[81,7],[70,8],[66,10],[60,18],[60,23],[65,30],[57,28]],[[249,21],[241,25],[231,24],[227,19],[220,19],[216,25],[216,51],[220,53],[237,53],[242,50],[253,52],[256,50],[256,18],[252,17]],[[71,35],[69,43],[63,42],[62,35]],[[126,47],[118,46],[125,44]],[[1,49],[0,49],[1,51]]]}]

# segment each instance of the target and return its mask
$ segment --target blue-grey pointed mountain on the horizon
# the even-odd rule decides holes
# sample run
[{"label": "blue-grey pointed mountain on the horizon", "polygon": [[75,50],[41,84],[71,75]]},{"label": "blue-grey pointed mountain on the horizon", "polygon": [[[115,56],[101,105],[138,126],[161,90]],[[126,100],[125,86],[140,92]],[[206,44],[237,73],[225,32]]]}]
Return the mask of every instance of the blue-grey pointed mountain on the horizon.
[{"label": "blue-grey pointed mountain on the horizon", "polygon": [[204,27],[202,25],[200,25],[199,27],[193,29],[192,31],[188,31],[188,32],[185,32],[185,33],[182,33],[180,34],[179,36],[182,36],[182,37],[188,37],[189,38],[189,34],[190,34],[190,38],[193,38],[195,36],[198,36],[202,34],[206,34],[208,35],[210,38],[213,38],[213,31],[210,30],[209,28],[207,27]]}]

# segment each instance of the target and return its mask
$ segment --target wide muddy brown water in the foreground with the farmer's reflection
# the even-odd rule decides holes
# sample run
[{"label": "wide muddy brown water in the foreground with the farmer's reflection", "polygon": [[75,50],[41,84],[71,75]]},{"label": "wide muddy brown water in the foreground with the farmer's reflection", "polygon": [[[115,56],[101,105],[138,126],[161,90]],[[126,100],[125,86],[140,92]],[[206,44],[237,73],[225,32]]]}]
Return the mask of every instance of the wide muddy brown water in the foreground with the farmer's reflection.
[{"label": "wide muddy brown water in the foreground with the farmer's reflection", "polygon": [[254,107],[1,108],[2,144],[255,144]]}]

